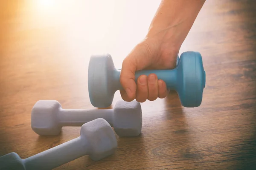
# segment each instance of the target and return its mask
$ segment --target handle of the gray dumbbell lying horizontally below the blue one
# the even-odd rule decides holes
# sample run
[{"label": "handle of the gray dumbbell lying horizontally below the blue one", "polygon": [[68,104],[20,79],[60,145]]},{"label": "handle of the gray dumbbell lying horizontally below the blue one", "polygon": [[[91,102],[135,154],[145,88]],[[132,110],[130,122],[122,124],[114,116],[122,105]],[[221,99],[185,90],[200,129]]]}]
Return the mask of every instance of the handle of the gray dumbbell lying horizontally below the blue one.
[{"label": "handle of the gray dumbbell lying horizontally below the blue one", "polygon": [[60,126],[81,126],[94,119],[103,118],[113,125],[113,109],[63,109],[58,112]]}]

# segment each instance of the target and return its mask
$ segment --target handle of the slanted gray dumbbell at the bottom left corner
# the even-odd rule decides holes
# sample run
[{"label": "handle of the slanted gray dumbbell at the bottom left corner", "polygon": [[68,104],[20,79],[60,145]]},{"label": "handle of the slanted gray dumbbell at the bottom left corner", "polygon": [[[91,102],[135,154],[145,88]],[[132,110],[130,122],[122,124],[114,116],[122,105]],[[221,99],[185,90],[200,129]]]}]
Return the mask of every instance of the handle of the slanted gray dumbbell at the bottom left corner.
[{"label": "handle of the slanted gray dumbbell at the bottom left corner", "polygon": [[79,136],[58,146],[52,147],[29,158],[23,159],[26,170],[54,169],[67,162],[88,155],[88,143]]}]

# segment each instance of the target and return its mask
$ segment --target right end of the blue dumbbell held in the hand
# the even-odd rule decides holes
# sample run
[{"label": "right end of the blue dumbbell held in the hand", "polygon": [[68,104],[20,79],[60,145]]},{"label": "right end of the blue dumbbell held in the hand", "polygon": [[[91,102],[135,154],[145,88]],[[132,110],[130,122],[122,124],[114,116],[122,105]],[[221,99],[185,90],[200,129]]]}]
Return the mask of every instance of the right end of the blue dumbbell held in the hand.
[{"label": "right end of the blue dumbbell held in the hand", "polygon": [[201,54],[197,51],[182,53],[178,69],[180,70],[178,94],[181,104],[187,108],[200,106],[206,82]]}]

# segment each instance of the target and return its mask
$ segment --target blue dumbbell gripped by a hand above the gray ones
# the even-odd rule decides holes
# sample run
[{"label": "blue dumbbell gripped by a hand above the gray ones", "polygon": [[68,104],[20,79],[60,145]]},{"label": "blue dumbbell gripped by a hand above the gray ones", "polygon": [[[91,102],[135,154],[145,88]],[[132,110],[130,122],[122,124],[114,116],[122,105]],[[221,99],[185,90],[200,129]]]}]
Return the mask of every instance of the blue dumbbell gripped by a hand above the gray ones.
[{"label": "blue dumbbell gripped by a hand above the gray ones", "polygon": [[[151,73],[165,81],[168,89],[177,91],[184,107],[194,108],[201,105],[206,76],[199,52],[182,53],[175,69],[137,71],[136,82],[140,75],[148,76]],[[88,91],[94,107],[107,108],[112,104],[115,92],[123,89],[119,78],[120,70],[115,68],[110,54],[90,57]]]}]

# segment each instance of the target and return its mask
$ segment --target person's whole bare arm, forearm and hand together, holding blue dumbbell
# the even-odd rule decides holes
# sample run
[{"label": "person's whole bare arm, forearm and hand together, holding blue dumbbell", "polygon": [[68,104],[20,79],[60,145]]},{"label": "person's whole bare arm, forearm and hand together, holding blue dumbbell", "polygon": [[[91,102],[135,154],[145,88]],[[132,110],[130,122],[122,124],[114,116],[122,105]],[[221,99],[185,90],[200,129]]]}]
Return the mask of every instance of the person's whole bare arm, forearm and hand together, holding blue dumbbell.
[{"label": "person's whole bare arm, forearm and hand together, holding blue dumbbell", "polygon": [[[143,69],[172,69],[178,52],[205,0],[161,0],[145,39],[124,59],[120,73],[122,99],[145,102],[164,98],[166,83],[155,74],[141,75],[135,82],[135,72]],[[179,9],[179,10],[177,10]]]}]

